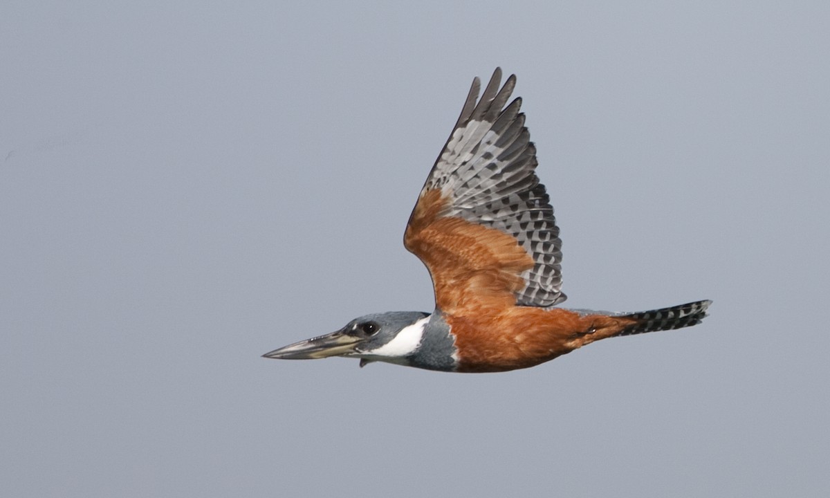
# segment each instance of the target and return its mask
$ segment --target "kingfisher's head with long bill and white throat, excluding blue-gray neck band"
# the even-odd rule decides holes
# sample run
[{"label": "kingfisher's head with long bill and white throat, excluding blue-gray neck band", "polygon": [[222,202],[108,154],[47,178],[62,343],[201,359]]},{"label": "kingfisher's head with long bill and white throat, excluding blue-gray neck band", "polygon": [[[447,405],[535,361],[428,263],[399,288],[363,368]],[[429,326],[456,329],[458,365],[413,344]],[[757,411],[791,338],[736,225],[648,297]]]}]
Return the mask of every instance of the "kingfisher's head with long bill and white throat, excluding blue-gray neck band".
[{"label": "kingfisher's head with long bill and white throat, excluding blue-gray neck band", "polygon": [[364,315],[331,334],[302,340],[263,354],[274,359],[318,359],[329,356],[408,364],[422,342],[430,315],[421,311],[390,311]]}]

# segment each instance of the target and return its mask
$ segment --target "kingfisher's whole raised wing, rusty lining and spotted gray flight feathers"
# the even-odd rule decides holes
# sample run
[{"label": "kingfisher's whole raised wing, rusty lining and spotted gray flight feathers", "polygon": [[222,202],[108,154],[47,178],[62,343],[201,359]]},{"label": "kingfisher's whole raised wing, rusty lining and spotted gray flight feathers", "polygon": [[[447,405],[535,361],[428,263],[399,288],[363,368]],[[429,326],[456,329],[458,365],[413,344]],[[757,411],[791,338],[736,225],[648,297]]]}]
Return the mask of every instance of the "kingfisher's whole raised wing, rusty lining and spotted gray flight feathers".
[{"label": "kingfisher's whole raised wing, rusty lining and spotted gray flight feathers", "polygon": [[473,80],[404,235],[448,312],[565,300],[559,228],[535,174],[521,99],[505,107],[515,76],[499,90],[500,81],[496,68],[476,103],[481,84]]}]

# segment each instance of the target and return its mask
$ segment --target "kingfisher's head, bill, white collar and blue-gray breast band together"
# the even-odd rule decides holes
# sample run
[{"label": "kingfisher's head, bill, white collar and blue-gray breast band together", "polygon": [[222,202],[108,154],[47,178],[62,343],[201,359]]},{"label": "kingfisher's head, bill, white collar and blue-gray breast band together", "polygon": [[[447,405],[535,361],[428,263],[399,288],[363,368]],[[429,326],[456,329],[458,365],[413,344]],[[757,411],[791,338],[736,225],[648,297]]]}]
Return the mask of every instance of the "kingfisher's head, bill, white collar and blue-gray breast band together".
[{"label": "kingfisher's head, bill, white collar and blue-gray breast band together", "polygon": [[431,323],[431,317],[421,311],[364,315],[336,332],[275,349],[263,356],[275,359],[344,356],[359,358],[360,366],[384,361],[426,369],[451,369],[454,346],[449,330],[440,317],[432,320],[435,324]]}]

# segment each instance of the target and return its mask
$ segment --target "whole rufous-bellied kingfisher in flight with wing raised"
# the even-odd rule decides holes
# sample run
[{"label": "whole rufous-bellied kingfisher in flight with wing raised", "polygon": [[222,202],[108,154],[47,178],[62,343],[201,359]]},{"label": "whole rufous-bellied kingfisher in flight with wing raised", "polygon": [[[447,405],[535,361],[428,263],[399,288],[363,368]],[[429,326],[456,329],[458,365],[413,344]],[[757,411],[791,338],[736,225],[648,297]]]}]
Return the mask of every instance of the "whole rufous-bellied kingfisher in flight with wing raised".
[{"label": "whole rufous-bellied kingfisher in flight with wing raised", "polygon": [[364,315],[342,329],[264,354],[274,359],[359,358],[446,372],[532,367],[619,335],[697,325],[711,301],[608,313],[554,307],[561,241],[536,148],[508,104],[515,75],[496,68],[479,98],[473,80],[461,116],[424,183],[403,245],[432,276],[435,310]]}]

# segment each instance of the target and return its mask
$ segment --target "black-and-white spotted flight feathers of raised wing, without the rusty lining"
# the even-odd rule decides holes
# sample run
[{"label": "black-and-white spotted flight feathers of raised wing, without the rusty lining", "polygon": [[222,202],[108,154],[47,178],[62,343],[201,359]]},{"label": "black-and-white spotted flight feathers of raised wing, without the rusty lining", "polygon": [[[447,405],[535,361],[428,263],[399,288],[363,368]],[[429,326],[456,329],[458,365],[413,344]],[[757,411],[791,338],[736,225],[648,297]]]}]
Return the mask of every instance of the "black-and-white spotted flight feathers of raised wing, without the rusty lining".
[{"label": "black-and-white spotted flight feathers of raised wing, without the rusty lining", "polygon": [[556,305],[565,300],[559,227],[536,177],[536,148],[525,128],[525,115],[519,112],[521,99],[506,105],[515,76],[499,90],[500,81],[501,71],[496,69],[481,99],[480,81],[473,81],[421,195],[441,188],[452,200],[442,216],[461,217],[515,237],[535,263],[521,275],[525,287],[515,293],[516,303]]}]

